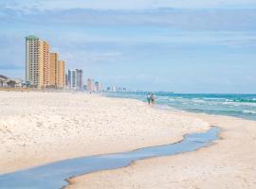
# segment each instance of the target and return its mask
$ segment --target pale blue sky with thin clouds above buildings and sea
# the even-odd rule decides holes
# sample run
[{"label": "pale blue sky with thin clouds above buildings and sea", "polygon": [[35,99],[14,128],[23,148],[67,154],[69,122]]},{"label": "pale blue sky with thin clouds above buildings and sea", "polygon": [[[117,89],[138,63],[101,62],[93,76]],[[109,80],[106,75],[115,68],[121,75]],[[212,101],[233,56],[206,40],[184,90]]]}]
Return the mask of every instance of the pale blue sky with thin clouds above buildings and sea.
[{"label": "pale blue sky with thin clouds above buildings and sea", "polygon": [[0,75],[30,34],[105,87],[256,94],[255,0],[0,0]]}]

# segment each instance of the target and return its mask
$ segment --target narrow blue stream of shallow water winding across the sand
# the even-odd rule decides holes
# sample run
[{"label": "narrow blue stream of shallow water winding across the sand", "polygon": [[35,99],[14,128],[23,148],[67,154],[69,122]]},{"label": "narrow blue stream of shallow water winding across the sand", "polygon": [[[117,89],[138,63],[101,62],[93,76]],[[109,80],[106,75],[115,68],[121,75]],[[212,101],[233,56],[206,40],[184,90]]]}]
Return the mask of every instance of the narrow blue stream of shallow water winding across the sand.
[{"label": "narrow blue stream of shallow water winding across the sand", "polygon": [[101,170],[117,169],[141,159],[170,156],[210,146],[213,141],[219,138],[219,132],[220,129],[214,127],[204,133],[188,134],[183,141],[172,145],[152,146],[130,152],[76,158],[0,175],[0,188],[60,189],[67,185],[65,179],[70,177]]}]

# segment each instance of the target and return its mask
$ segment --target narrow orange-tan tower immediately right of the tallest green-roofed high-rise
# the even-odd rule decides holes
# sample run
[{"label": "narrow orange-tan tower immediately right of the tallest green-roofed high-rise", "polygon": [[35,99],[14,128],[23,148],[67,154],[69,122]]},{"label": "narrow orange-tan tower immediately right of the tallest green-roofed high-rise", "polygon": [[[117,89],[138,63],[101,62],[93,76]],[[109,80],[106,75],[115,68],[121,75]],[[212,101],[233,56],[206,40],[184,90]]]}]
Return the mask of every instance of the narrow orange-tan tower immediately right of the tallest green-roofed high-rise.
[{"label": "narrow orange-tan tower immediately right of the tallest green-roofed high-rise", "polygon": [[49,86],[57,87],[57,69],[59,56],[57,53],[50,53],[49,63]]}]

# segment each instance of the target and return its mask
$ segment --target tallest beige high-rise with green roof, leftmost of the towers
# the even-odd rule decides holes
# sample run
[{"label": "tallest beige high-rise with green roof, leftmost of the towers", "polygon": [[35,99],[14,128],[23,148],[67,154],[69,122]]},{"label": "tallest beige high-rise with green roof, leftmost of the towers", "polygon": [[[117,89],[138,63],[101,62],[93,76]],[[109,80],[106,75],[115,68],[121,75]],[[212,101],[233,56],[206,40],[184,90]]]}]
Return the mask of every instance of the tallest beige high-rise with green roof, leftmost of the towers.
[{"label": "tallest beige high-rise with green roof, leftmost of the towers", "polygon": [[48,80],[49,45],[38,37],[26,37],[26,81],[34,88],[45,88]]}]

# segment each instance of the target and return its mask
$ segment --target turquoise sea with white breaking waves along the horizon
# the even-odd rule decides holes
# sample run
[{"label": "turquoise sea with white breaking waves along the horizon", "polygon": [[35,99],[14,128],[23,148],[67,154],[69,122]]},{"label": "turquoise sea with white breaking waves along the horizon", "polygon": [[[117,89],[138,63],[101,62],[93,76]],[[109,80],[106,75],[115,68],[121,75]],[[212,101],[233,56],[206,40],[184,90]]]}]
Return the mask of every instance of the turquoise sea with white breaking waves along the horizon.
[{"label": "turquoise sea with white breaking waves along the horizon", "polygon": [[[146,101],[147,93],[105,93],[110,97]],[[156,104],[169,109],[204,112],[256,120],[256,94],[171,94],[155,93]]]}]

